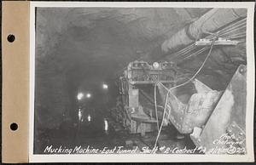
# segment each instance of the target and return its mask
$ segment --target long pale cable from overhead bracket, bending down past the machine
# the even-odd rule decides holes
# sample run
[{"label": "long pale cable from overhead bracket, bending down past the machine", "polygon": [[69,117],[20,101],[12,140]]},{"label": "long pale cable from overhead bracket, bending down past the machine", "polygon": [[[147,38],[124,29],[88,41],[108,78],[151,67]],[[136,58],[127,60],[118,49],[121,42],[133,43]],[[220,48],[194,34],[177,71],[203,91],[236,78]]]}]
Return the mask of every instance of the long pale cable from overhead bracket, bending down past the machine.
[{"label": "long pale cable from overhead bracket, bending down past the machine", "polygon": [[[217,34],[217,35],[216,35],[216,34]],[[159,131],[158,131],[157,137],[156,137],[155,142],[154,142],[154,148],[155,148],[156,145],[157,145],[157,142],[158,142],[158,139],[159,139],[159,136],[160,136],[160,132],[161,132],[161,129],[162,129],[163,124],[164,124],[164,119],[165,119],[165,115],[166,115],[166,106],[167,106],[167,102],[168,102],[167,100],[168,100],[169,94],[171,93],[171,91],[172,91],[173,88],[178,88],[178,87],[181,87],[181,86],[183,86],[183,85],[189,83],[190,81],[192,81],[192,80],[198,75],[198,73],[201,71],[201,69],[203,68],[203,66],[206,64],[206,62],[207,62],[207,60],[208,60],[210,54],[212,53],[212,48],[213,48],[213,45],[214,45],[214,43],[215,43],[215,40],[216,40],[216,38],[217,38],[217,36],[218,36],[218,32],[217,32],[216,34],[214,35],[215,37],[213,38],[212,45],[211,45],[211,48],[210,48],[210,50],[209,50],[209,53],[207,54],[206,59],[205,59],[205,60],[203,61],[203,63],[201,64],[201,67],[198,69],[198,71],[195,72],[194,76],[193,76],[193,77],[190,77],[187,82],[181,83],[181,84],[179,84],[179,85],[177,85],[177,86],[174,86],[174,87],[172,87],[172,88],[169,88],[169,89],[167,90],[166,100],[165,100],[165,106],[164,106],[165,108],[164,108],[164,112],[163,112],[162,122],[161,122],[160,129],[159,129]],[[169,111],[169,115],[170,115],[170,113],[171,113],[171,110]]]}]

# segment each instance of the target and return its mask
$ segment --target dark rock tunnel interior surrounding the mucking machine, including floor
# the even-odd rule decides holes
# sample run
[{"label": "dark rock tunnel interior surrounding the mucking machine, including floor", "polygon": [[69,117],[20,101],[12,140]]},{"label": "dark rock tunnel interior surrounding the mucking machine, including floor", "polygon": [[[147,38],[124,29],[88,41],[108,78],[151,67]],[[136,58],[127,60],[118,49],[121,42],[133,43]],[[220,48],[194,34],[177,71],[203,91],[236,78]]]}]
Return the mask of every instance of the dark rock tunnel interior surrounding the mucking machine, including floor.
[{"label": "dark rock tunnel interior surrounding the mucking machine, including floor", "polygon": [[[221,20],[220,14],[230,17]],[[125,107],[119,81],[131,62],[173,63],[182,75],[192,77],[211,49],[196,78],[218,91],[227,87],[239,65],[247,63],[245,9],[37,8],[36,15],[35,153],[44,153],[49,144],[154,147],[156,128],[143,136],[131,134],[119,117],[119,106]],[[225,28],[230,28],[228,35]],[[195,48],[195,41],[216,31],[239,43]],[[154,85],[137,88],[143,102],[139,107],[154,110]],[[182,103],[186,102],[183,93],[195,93],[191,88],[177,90]],[[161,94],[155,97],[164,105]],[[152,117],[161,123],[162,118]],[[171,123],[161,134],[160,139],[167,139],[163,144],[195,147]]]}]

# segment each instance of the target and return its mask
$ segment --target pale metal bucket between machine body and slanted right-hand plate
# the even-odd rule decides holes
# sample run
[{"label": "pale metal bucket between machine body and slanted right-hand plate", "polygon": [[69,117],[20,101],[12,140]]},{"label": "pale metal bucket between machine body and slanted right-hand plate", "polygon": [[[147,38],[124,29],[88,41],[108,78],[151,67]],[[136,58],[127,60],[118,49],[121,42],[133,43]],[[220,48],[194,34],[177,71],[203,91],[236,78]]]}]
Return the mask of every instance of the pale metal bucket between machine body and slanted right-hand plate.
[{"label": "pale metal bucket between machine body and slanted right-hand plate", "polygon": [[181,134],[191,134],[193,128],[203,127],[222,92],[212,90],[195,79],[190,83],[173,88],[158,85],[162,99],[166,99],[166,120],[170,121]]}]

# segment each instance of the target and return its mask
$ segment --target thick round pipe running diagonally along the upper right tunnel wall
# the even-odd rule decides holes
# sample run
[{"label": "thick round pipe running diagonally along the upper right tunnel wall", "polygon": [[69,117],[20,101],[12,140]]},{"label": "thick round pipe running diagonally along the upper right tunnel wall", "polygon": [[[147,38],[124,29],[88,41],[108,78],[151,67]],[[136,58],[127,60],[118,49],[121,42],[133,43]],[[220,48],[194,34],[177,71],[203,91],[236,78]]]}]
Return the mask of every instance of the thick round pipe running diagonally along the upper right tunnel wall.
[{"label": "thick round pipe running diagonally along the upper right tunnel wall", "polygon": [[170,53],[178,48],[194,43],[203,33],[218,31],[231,22],[247,16],[247,9],[211,9],[189,26],[177,31],[161,44],[162,53]]}]

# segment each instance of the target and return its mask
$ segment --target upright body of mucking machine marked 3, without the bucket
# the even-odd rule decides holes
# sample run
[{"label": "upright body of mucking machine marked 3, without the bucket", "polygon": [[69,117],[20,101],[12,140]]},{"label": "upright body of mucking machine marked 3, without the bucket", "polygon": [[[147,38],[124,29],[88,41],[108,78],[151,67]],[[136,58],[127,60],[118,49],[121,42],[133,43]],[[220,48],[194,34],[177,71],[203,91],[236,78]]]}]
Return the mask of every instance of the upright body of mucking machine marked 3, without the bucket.
[{"label": "upright body of mucking machine marked 3, without the bucket", "polygon": [[[132,134],[154,131],[162,111],[155,110],[154,85],[156,82],[170,86],[177,76],[172,62],[155,62],[149,65],[144,61],[131,62],[119,78],[119,92],[124,104],[123,125]],[[158,105],[158,108],[163,108]]]}]

